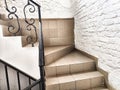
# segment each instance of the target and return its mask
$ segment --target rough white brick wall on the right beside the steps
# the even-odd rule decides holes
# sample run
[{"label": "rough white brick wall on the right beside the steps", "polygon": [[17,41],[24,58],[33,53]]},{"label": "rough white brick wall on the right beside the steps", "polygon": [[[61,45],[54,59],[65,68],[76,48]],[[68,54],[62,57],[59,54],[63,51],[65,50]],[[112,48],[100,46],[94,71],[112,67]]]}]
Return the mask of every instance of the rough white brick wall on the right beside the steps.
[{"label": "rough white brick wall on the right beside the steps", "polygon": [[75,0],[73,7],[75,47],[98,57],[102,69],[119,70],[120,0]]}]

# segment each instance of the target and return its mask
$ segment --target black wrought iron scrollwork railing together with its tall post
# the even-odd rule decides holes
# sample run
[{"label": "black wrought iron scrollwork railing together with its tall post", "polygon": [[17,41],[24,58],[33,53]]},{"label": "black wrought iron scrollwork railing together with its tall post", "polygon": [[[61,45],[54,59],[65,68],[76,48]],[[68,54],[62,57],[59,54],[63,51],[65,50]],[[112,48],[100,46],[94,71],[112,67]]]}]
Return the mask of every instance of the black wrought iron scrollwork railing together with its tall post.
[{"label": "black wrought iron scrollwork railing together with its tall post", "polygon": [[[6,10],[9,13],[8,19],[13,20],[15,17],[16,22],[17,22],[17,28],[11,24],[8,26],[8,31],[13,35],[17,35],[18,33],[21,33],[21,25],[20,25],[19,17],[16,14],[17,8],[15,6],[12,6],[11,9],[9,9],[7,5],[7,0],[5,0],[5,5],[6,5]],[[35,19],[34,18],[27,19],[26,13],[28,12],[26,12],[26,9],[28,6],[31,6],[31,8],[29,8],[30,13],[34,13],[36,11],[35,7],[37,7],[38,21],[39,21],[39,33],[37,33],[37,27],[35,26]],[[40,85],[40,90],[45,90],[45,71],[44,71],[45,61],[44,61],[44,43],[43,43],[43,34],[42,34],[41,6],[37,4],[36,2],[34,2],[33,0],[28,0],[27,4],[23,7],[23,13],[25,16],[25,22],[27,24],[26,30],[31,31],[34,29],[34,32],[35,32],[35,39],[31,35],[28,35],[26,38],[27,42],[32,44],[32,46],[34,46],[34,43],[36,41],[39,41],[39,67],[40,67],[40,77],[41,77],[39,81],[39,85]],[[38,81],[37,83],[34,84],[34,86],[37,84],[38,84]],[[30,87],[31,86],[29,86],[29,89]]]}]

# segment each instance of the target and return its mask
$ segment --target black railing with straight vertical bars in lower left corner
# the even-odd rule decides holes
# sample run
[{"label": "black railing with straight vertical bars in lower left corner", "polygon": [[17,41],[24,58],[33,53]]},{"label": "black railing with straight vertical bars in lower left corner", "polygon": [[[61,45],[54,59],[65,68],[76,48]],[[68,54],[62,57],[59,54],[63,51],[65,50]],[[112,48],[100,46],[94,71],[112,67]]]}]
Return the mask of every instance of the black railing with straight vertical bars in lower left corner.
[{"label": "black railing with straight vertical bars in lower left corner", "polygon": [[[0,67],[1,67],[2,69],[4,69],[4,70],[0,71],[0,73],[4,73],[4,74],[5,74],[5,78],[6,78],[4,81],[2,81],[2,82],[4,82],[4,83],[6,83],[6,85],[1,86],[2,84],[0,84],[0,89],[2,89],[2,90],[3,90],[3,88],[4,88],[4,89],[6,88],[7,90],[12,90],[11,88],[14,88],[14,87],[18,88],[18,90],[22,90],[22,87],[21,87],[21,86],[22,86],[22,84],[24,84],[24,83],[21,83],[21,79],[23,79],[23,78],[21,78],[21,75],[25,76],[25,77],[28,79],[29,85],[32,85],[32,82],[31,82],[31,81],[36,82],[36,79],[35,79],[35,78],[33,78],[33,77],[31,77],[30,75],[26,74],[25,72],[17,69],[16,67],[14,67],[14,66],[12,66],[12,65],[4,62],[4,61],[1,60],[1,59],[0,59]],[[13,72],[10,72],[11,69],[12,69],[12,71],[15,72],[15,73],[14,73],[14,74],[15,74],[14,76],[17,76],[17,77],[10,77],[10,73],[13,73]],[[2,80],[2,79],[4,78],[4,76],[1,75],[0,78],[1,78],[1,80]],[[11,78],[14,78],[14,80],[17,80],[17,83],[16,83],[16,85],[14,85],[14,87],[12,87],[13,85],[11,84],[11,81],[10,81]],[[14,81],[12,81],[12,82],[14,82]],[[26,86],[26,87],[27,87],[27,86]]]}]

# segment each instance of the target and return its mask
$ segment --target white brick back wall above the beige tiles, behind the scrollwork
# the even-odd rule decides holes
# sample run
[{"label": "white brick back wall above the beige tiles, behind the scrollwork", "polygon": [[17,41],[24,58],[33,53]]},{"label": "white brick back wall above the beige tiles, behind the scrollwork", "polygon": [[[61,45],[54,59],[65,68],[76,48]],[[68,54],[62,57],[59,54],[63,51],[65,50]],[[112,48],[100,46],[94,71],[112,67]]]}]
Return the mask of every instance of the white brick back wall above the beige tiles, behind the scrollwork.
[{"label": "white brick back wall above the beige tiles, behind the scrollwork", "polygon": [[[18,11],[17,15],[24,18],[23,6],[28,0],[6,0],[8,7],[16,6]],[[71,18],[73,14],[71,12],[71,0],[34,0],[42,6],[42,18]],[[28,10],[28,9],[27,9]],[[5,13],[4,0],[0,0],[0,13]],[[38,17],[37,13],[28,14],[27,17]]]}]

